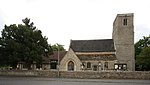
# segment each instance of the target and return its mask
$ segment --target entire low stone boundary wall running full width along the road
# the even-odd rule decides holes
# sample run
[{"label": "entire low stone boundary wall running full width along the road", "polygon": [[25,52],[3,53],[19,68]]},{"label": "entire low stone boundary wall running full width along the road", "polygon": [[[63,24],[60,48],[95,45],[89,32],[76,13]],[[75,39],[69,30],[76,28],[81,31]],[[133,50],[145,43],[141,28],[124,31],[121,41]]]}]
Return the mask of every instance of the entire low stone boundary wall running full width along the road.
[{"label": "entire low stone boundary wall running full width along the road", "polygon": [[[0,71],[0,76],[34,76],[58,78],[57,71]],[[60,71],[60,78],[83,78],[83,79],[149,79],[150,71],[137,72],[67,72]]]}]

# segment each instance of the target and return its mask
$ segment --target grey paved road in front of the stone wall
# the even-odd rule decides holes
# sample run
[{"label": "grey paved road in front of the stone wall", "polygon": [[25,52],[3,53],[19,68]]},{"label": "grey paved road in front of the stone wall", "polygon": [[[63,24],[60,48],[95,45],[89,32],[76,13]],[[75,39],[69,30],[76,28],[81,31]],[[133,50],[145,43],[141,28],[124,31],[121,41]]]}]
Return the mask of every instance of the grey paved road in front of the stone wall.
[{"label": "grey paved road in front of the stone wall", "polygon": [[0,85],[150,85],[150,80],[58,79],[0,76]]}]

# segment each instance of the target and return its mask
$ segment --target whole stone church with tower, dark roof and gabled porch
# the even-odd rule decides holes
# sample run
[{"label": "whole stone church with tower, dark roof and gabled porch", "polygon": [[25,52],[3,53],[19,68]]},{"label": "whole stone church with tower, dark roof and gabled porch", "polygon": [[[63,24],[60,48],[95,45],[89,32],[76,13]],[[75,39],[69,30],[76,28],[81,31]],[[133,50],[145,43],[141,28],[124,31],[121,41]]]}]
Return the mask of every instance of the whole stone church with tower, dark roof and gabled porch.
[{"label": "whole stone church with tower, dark roof and gabled porch", "polygon": [[118,14],[112,39],[71,40],[60,71],[134,71],[134,14]]}]

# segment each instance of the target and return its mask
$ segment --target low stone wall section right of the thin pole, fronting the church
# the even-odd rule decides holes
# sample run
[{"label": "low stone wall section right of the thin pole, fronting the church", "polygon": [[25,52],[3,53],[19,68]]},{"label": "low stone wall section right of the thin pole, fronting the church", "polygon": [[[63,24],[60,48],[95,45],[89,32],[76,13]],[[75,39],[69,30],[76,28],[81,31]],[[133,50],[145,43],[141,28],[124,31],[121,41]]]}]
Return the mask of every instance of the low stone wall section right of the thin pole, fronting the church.
[{"label": "low stone wall section right of the thin pole, fronting the church", "polygon": [[62,78],[150,79],[150,72],[62,72]]}]

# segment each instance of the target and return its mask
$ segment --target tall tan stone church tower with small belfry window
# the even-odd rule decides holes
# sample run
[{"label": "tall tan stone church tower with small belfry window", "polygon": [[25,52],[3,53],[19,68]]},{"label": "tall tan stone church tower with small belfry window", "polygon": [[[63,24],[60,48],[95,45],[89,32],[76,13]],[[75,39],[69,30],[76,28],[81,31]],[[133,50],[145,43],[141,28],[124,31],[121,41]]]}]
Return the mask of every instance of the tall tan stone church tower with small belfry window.
[{"label": "tall tan stone church tower with small belfry window", "polygon": [[[116,50],[116,64],[128,71],[135,71],[134,14],[118,14],[113,23],[112,38]],[[116,66],[116,67],[118,67]]]}]

